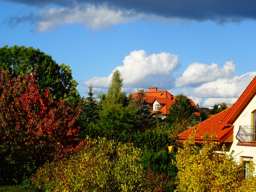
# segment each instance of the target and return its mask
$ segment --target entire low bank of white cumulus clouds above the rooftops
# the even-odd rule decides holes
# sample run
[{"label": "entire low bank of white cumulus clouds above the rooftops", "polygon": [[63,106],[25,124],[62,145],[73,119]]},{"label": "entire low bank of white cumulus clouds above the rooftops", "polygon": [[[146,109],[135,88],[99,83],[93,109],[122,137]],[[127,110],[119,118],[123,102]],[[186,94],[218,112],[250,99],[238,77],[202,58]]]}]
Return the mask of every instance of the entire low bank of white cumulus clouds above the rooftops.
[{"label": "entire low bank of white cumulus clouds above the rooftops", "polygon": [[[160,79],[161,90],[171,90],[172,94],[184,92],[195,103],[201,106],[213,106],[215,103],[236,102],[248,84],[256,76],[255,72],[248,72],[241,76],[234,76],[237,72],[234,61],[227,61],[223,67],[217,63],[191,63],[180,75],[177,73],[181,65],[179,57],[162,52],[148,55],[146,51],[132,51],[123,60],[122,66],[117,66],[124,78],[123,88],[130,92],[136,88],[148,90],[148,87],[158,87]],[[113,73],[108,77],[93,77],[83,83],[90,84],[97,90],[108,87]]]}]

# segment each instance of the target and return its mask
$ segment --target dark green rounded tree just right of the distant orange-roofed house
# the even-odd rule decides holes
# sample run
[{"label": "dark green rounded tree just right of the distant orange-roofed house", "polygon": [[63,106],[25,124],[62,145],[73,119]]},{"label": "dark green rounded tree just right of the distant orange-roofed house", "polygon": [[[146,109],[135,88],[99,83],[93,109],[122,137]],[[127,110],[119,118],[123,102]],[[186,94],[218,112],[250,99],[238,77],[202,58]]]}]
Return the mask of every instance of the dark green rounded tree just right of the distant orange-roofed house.
[{"label": "dark green rounded tree just right of the distant orange-roofed house", "polygon": [[180,123],[188,121],[194,115],[194,107],[191,105],[189,98],[183,93],[176,95],[174,103],[169,109],[166,121],[170,123]]}]

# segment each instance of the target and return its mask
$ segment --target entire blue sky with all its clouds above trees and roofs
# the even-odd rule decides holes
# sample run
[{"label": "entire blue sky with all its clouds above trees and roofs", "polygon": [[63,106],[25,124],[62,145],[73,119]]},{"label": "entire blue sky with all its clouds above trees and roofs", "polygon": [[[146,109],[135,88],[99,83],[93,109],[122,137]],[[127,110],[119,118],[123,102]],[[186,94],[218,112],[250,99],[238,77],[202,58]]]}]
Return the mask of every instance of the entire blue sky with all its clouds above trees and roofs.
[{"label": "entire blue sky with all its clouds above trees and roofs", "polygon": [[0,0],[0,47],[69,65],[84,97],[119,69],[127,94],[157,87],[232,104],[256,76],[255,10],[254,0]]}]

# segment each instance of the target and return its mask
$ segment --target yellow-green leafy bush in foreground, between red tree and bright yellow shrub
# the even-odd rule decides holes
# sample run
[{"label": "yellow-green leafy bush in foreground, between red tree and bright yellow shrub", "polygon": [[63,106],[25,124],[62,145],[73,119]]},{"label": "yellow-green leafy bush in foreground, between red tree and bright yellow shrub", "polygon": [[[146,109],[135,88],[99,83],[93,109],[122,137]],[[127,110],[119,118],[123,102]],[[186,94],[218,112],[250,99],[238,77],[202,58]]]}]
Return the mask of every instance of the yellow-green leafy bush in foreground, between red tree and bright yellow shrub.
[{"label": "yellow-green leafy bush in foreground, between red tree and bright yellow shrub", "polygon": [[40,168],[33,181],[47,191],[146,191],[141,152],[131,143],[105,138],[84,141],[66,161]]}]

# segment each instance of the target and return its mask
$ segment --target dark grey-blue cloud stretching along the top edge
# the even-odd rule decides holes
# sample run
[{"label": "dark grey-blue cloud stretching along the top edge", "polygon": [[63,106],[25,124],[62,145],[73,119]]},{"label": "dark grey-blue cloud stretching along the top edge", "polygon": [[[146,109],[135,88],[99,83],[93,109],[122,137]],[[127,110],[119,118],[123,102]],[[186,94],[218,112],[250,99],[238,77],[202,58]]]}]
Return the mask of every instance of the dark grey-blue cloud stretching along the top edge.
[{"label": "dark grey-blue cloud stretching along the top edge", "polygon": [[[8,0],[10,2],[10,0]],[[256,19],[255,0],[11,0],[29,6],[57,5],[72,8],[84,4],[107,5],[111,9],[133,9],[137,13],[165,18],[212,20],[217,23]]]}]

